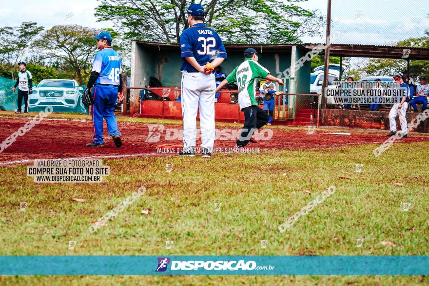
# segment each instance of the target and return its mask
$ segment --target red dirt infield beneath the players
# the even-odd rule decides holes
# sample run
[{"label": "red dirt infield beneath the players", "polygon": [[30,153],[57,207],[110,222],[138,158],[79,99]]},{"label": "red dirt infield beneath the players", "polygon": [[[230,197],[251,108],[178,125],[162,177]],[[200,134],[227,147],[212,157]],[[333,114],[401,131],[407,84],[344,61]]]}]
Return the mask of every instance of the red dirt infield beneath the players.
[{"label": "red dirt infield beneath the players", "polygon": [[[0,143],[12,133],[23,127],[30,118],[1,117]],[[181,129],[181,125],[164,125],[164,130],[158,142],[145,142],[148,139],[148,126],[142,123],[118,122],[122,133],[123,146],[115,148],[113,140],[107,137],[107,126],[104,125],[104,148],[90,148],[85,144],[92,141],[93,126],[90,120],[77,119],[44,119],[23,136],[18,136],[16,141],[0,153],[0,166],[14,163],[26,163],[24,160],[34,159],[58,159],[79,157],[137,157],[154,156],[158,144],[182,145],[182,140],[166,141],[165,135],[168,129]],[[387,137],[386,133],[365,133],[362,131],[344,130],[339,132],[351,133],[350,136],[318,134],[338,131],[319,131],[307,134],[305,130],[283,131],[273,127],[273,137],[270,140],[259,140],[258,144],[249,143],[247,147],[263,149],[298,149],[298,148],[331,148],[344,145],[380,144]],[[237,127],[218,127],[220,130],[238,130]],[[266,135],[265,135],[266,136]],[[411,134],[408,138],[397,140],[402,143],[429,141],[429,136]],[[200,140],[197,139],[197,145]],[[233,148],[234,140],[216,140],[215,148]],[[29,163],[29,162],[28,162]]]}]

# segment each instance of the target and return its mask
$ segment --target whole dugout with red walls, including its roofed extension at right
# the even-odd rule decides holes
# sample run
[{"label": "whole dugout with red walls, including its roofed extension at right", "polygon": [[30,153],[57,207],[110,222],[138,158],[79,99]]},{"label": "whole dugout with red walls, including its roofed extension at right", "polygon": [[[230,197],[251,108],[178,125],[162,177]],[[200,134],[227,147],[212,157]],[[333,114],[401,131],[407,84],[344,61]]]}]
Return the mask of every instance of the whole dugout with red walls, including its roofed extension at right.
[{"label": "whole dugout with red walls, including its roofed extension at right", "polygon": [[[222,72],[229,74],[243,60],[243,52],[249,45],[225,45],[228,60]],[[286,98],[277,97],[274,110],[276,124],[348,126],[359,128],[389,129],[389,112],[370,112],[365,110],[331,110],[320,106],[321,97],[310,95],[311,61],[301,61],[314,48],[323,48],[319,43],[297,43],[287,45],[252,45],[262,56],[259,62],[274,76],[282,77],[287,83],[289,94]],[[320,55],[324,55],[324,50]],[[377,45],[331,44],[331,56],[377,57],[407,60],[429,59],[429,49],[415,47],[395,47]],[[342,60],[341,60],[342,62]],[[127,114],[140,113],[144,117],[181,118],[180,102],[174,100],[180,94],[180,47],[178,44],[132,41],[131,87]],[[289,73],[287,73],[287,70]],[[341,69],[340,69],[341,70]],[[162,82],[162,88],[154,90],[158,96],[168,101],[141,101],[138,88],[149,85],[149,78],[155,76]],[[287,77],[286,77],[287,76]],[[343,76],[343,80],[346,75]],[[215,105],[216,120],[240,122],[244,120],[237,104],[231,104],[233,90],[221,93]],[[286,102],[286,104],[285,104]],[[316,107],[315,107],[316,106]],[[411,116],[411,115],[410,115]],[[411,116],[412,117],[412,116]],[[317,121],[316,121],[317,119]],[[427,132],[422,124],[419,131]]]}]

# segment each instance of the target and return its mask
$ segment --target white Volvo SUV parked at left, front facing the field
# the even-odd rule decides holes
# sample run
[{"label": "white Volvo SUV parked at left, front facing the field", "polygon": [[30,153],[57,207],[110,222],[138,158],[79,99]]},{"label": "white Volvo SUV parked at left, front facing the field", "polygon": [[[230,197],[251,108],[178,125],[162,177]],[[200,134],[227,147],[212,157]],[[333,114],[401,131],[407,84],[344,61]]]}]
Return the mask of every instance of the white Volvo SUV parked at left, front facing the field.
[{"label": "white Volvo SUV parked at left, front facing the field", "polygon": [[29,108],[52,106],[84,112],[83,88],[74,79],[43,79],[29,95]]}]

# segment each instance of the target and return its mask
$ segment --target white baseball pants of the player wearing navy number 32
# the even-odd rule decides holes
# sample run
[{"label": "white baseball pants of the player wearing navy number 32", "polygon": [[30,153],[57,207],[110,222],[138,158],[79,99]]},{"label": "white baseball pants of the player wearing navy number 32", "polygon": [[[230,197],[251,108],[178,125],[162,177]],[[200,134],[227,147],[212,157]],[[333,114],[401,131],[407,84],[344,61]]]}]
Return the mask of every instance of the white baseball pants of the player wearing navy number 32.
[{"label": "white baseball pants of the player wearing navy number 32", "polygon": [[201,147],[212,150],[215,144],[215,75],[182,73],[183,149],[195,148],[196,114],[199,109]]}]

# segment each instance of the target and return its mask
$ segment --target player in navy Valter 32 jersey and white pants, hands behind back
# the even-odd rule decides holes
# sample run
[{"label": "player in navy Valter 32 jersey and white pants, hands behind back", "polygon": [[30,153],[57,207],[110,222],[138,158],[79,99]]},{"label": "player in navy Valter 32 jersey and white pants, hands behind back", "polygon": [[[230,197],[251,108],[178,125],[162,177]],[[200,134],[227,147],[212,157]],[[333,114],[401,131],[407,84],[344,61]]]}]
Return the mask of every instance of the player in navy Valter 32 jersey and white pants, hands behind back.
[{"label": "player in navy Valter 32 jersey and white pants, hands behind back", "polygon": [[216,68],[226,58],[225,47],[215,30],[204,24],[205,11],[201,5],[191,4],[188,11],[189,28],[180,36],[182,57],[181,105],[183,116],[183,152],[195,156],[196,114],[199,109],[201,154],[210,158],[215,142],[215,75],[206,66]]}]

